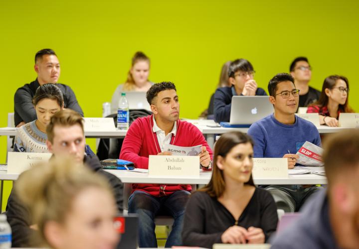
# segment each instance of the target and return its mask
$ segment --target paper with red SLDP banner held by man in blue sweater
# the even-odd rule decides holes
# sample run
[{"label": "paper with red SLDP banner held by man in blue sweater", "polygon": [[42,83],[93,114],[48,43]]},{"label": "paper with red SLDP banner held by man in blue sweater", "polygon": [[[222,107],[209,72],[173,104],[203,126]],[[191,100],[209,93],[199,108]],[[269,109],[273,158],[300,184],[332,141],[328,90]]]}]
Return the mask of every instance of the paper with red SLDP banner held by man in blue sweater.
[{"label": "paper with red SLDP banner held by man in blue sweater", "polygon": [[323,166],[322,154],[321,147],[306,141],[297,152],[297,163],[304,166]]}]

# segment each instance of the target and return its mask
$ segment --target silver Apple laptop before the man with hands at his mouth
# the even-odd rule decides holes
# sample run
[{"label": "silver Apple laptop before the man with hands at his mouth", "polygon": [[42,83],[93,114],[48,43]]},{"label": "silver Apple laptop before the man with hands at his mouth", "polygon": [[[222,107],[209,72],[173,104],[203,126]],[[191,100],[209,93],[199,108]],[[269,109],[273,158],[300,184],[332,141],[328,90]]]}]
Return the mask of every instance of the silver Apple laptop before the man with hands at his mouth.
[{"label": "silver Apple laptop before the man with hands at his mouth", "polygon": [[233,96],[229,124],[253,124],[273,112],[269,96]]}]

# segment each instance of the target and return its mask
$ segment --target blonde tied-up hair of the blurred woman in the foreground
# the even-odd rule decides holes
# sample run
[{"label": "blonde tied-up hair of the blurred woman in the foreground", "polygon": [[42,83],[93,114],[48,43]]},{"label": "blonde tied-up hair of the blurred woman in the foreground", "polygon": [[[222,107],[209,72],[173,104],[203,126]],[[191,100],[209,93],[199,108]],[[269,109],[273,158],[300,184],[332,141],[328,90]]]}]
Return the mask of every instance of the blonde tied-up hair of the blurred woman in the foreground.
[{"label": "blonde tied-up hair of the blurred woman in the foreground", "polygon": [[46,223],[64,224],[73,200],[83,190],[94,187],[113,196],[103,176],[69,158],[52,158],[35,165],[23,172],[14,186],[15,194],[30,212],[31,223],[38,226],[39,238],[32,238],[36,245],[49,244],[44,234]]}]

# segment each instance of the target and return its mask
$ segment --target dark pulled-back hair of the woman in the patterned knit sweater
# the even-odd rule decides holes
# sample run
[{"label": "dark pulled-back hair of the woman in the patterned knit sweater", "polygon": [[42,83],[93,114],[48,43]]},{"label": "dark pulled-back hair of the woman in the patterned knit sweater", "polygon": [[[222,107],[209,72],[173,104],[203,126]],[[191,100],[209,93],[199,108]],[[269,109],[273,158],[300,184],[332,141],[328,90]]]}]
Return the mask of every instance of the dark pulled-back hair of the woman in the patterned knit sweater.
[{"label": "dark pulled-back hair of the woman in the patterned knit sweater", "polygon": [[37,103],[43,99],[56,100],[57,104],[59,104],[60,107],[63,107],[63,95],[56,84],[48,83],[39,86],[32,98],[32,104],[36,106]]}]

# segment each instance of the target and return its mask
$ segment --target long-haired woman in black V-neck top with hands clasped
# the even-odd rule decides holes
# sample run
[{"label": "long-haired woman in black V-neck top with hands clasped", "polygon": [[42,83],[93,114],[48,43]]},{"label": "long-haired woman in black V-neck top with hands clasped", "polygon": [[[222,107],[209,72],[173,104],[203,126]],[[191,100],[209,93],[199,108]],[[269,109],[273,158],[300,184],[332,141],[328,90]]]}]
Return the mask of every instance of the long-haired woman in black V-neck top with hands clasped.
[{"label": "long-haired woman in black V-neck top with hands clasped", "polygon": [[189,198],[183,245],[212,248],[215,243],[263,244],[276,230],[273,197],[252,179],[252,139],[241,132],[221,135],[214,147],[210,182]]}]

